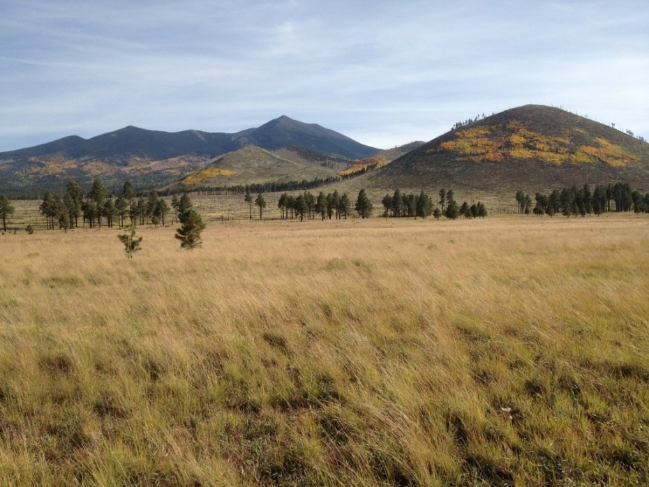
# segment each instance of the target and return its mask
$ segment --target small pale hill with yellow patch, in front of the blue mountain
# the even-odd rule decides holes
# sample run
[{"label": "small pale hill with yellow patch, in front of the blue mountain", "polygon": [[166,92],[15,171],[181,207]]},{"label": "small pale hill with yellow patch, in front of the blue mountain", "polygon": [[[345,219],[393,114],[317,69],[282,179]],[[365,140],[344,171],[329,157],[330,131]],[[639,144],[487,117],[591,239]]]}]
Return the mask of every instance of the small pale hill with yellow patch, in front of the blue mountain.
[{"label": "small pale hill with yellow patch, in front of the blue mountain", "polygon": [[[289,152],[288,149],[278,151]],[[246,183],[312,181],[336,176],[335,170],[311,161],[290,160],[255,146],[246,146],[210,161],[209,165],[186,175],[173,186],[235,186]]]}]

